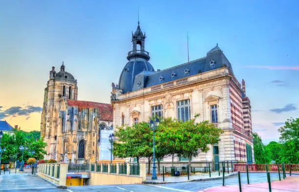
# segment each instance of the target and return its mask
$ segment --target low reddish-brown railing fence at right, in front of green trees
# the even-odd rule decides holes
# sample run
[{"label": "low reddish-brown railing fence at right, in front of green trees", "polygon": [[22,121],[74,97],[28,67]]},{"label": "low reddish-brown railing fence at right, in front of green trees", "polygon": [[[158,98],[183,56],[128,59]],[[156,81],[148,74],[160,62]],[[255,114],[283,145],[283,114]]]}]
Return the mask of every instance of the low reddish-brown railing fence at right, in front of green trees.
[{"label": "low reddish-brown railing fence at right, in front of green trees", "polygon": [[[277,172],[278,164],[235,164],[235,171],[246,171],[246,165],[248,166],[248,171],[270,171]],[[299,164],[285,164],[285,171],[299,172]],[[282,164],[279,164],[279,170],[282,170]]]}]

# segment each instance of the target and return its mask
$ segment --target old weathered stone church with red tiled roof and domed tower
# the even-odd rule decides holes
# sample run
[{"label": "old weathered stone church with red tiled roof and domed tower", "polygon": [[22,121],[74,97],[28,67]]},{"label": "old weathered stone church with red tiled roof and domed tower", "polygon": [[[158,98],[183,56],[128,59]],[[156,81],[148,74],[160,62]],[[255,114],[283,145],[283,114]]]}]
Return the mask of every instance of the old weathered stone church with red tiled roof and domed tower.
[{"label": "old weathered stone church with red tiled roof and domed tower", "polygon": [[44,89],[41,120],[41,136],[47,143],[45,159],[68,163],[110,159],[111,105],[77,98],[77,80],[65,71],[64,63],[58,73],[53,66]]}]

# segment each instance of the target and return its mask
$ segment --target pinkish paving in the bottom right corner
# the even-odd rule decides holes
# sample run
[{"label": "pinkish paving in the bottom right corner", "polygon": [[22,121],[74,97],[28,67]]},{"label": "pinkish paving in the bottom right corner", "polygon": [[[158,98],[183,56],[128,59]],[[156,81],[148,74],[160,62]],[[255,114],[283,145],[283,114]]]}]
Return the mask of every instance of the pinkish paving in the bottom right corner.
[{"label": "pinkish paving in the bottom right corner", "polygon": [[[299,192],[299,176],[288,176],[281,181],[271,182],[272,192]],[[199,192],[239,192],[238,185],[219,186]],[[268,183],[255,183],[242,185],[242,192],[269,192]]]}]

